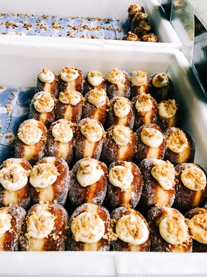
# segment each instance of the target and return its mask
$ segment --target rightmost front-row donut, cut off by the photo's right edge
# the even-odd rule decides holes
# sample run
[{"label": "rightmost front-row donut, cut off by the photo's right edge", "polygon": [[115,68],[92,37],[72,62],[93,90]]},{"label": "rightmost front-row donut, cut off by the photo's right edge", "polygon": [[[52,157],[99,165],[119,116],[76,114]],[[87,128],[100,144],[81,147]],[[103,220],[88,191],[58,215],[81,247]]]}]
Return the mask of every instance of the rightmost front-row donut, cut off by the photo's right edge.
[{"label": "rightmost front-row donut, cut off by the photo's right edge", "polygon": [[193,252],[207,252],[207,208],[194,208],[185,214],[185,218],[189,219]]}]

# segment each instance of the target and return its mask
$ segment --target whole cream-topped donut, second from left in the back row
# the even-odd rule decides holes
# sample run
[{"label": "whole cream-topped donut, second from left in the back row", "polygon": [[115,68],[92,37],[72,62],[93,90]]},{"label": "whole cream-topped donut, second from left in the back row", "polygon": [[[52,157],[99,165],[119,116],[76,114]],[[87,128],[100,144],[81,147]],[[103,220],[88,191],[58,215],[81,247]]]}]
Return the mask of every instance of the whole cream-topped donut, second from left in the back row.
[{"label": "whole cream-topped donut, second from left in the back row", "polygon": [[79,91],[83,94],[83,74],[74,66],[63,67],[59,75],[59,89],[65,91],[67,88]]}]

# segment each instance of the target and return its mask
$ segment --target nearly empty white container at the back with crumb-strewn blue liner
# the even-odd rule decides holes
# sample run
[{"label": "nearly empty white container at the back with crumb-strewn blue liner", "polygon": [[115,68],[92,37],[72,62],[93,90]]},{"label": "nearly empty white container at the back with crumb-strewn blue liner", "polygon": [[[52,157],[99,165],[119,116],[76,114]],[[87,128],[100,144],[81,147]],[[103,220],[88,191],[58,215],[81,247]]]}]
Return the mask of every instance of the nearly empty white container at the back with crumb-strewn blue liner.
[{"label": "nearly empty white container at the back with crumb-strewn blue liner", "polygon": [[[136,1],[135,1],[136,2]],[[124,20],[128,16],[128,6],[132,5],[132,0],[0,0],[1,13],[15,14],[34,14],[34,15],[51,15],[58,17],[99,17],[115,18]],[[182,43],[174,31],[171,23],[161,9],[157,0],[139,0],[139,4],[144,6],[145,12],[149,15],[149,22],[152,26],[153,33],[158,36],[159,42],[133,42],[108,39],[87,39],[87,38],[55,38],[41,36],[14,36],[0,35],[2,41],[38,41],[42,42],[70,42],[86,44],[112,44],[126,46],[143,46],[143,47],[171,47],[180,49]]]}]

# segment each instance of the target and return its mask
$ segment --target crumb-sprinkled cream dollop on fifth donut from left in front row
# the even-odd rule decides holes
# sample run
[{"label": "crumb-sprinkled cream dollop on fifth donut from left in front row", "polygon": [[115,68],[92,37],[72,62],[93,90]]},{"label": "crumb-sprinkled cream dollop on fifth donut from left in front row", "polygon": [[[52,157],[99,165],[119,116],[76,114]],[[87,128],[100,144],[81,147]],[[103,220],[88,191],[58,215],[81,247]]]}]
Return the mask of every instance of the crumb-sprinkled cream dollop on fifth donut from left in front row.
[{"label": "crumb-sprinkled cream dollop on fifth donut from left in front row", "polygon": [[189,238],[188,227],[182,215],[169,215],[161,220],[159,232],[167,243],[176,245],[183,243]]}]

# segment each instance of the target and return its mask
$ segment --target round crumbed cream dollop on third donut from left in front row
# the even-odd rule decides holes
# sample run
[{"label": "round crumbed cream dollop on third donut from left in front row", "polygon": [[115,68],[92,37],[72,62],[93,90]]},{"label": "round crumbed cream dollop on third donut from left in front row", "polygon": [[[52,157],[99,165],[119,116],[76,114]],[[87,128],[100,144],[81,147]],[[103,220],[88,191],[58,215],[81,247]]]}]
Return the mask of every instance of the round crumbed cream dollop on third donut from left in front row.
[{"label": "round crumbed cream dollop on third donut from left in front row", "polygon": [[96,243],[105,233],[105,225],[98,214],[83,212],[71,223],[71,231],[75,241]]}]

